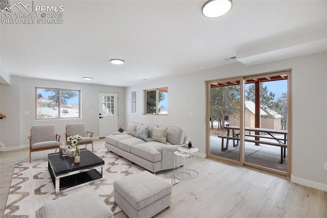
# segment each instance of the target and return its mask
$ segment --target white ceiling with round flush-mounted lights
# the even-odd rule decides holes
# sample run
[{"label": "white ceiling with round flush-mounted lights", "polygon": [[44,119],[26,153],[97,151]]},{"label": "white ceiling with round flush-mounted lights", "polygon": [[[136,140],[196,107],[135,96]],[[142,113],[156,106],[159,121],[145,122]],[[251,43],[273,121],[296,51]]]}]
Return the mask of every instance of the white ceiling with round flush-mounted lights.
[{"label": "white ceiling with round flush-mounted lights", "polygon": [[22,77],[130,86],[327,50],[327,1],[233,0],[219,18],[205,0],[27,2],[64,11],[63,24],[0,24],[2,65]]}]

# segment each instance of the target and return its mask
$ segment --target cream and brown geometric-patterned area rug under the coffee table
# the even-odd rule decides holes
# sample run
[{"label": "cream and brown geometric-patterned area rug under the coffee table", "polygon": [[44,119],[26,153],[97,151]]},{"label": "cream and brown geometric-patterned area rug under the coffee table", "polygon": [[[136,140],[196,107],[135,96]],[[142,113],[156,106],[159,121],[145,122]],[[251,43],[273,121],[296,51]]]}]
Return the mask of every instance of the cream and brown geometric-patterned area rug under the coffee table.
[{"label": "cream and brown geometric-patterned area rug under the coffee table", "polygon": [[[41,209],[45,203],[89,189],[93,189],[99,194],[104,203],[111,208],[113,214],[122,211],[114,203],[113,181],[142,172],[145,169],[113,152],[109,152],[106,148],[95,150],[94,154],[105,162],[102,171],[103,180],[57,195],[48,170],[47,158],[33,160],[32,163],[17,163],[11,180],[4,217],[41,218]],[[170,181],[172,185],[179,182],[165,173],[157,172],[156,176]],[[78,205],[78,202],[72,202],[72,207],[76,205]]]}]

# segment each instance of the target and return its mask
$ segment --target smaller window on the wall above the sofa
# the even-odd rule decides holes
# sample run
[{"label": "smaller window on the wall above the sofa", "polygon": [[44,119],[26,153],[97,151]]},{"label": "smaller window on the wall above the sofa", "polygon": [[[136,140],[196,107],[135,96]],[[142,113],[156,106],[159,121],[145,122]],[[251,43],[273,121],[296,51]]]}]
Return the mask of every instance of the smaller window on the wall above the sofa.
[{"label": "smaller window on the wall above the sofa", "polygon": [[168,114],[168,87],[146,90],[146,114]]}]

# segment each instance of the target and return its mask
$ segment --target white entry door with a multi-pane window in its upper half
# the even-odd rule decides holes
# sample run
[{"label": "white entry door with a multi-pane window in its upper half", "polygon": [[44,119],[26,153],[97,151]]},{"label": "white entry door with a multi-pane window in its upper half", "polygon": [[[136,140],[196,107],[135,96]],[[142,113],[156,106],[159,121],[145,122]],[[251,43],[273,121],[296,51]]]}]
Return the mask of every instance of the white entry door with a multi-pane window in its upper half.
[{"label": "white entry door with a multi-pane window in its upper half", "polygon": [[118,131],[118,94],[99,93],[99,137]]}]

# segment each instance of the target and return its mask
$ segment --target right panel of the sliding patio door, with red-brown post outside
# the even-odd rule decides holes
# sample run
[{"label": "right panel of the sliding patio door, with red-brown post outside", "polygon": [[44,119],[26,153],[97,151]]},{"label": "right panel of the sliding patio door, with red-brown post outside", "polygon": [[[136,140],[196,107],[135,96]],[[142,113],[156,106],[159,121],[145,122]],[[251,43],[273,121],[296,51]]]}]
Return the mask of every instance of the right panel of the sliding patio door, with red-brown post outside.
[{"label": "right panel of the sliding patio door, with red-brown post outside", "polygon": [[244,165],[287,172],[288,74],[244,79]]}]

